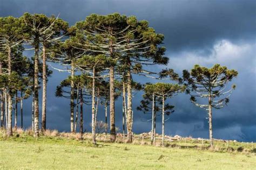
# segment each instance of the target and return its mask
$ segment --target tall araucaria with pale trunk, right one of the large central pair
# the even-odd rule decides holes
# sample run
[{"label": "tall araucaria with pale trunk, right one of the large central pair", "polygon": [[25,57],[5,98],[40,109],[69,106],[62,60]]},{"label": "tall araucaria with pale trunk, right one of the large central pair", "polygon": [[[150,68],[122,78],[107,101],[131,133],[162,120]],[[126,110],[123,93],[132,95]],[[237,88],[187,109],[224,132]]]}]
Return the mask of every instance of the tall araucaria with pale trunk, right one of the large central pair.
[{"label": "tall araucaria with pale trunk, right one of the large central pair", "polygon": [[134,16],[127,18],[126,22],[128,27],[127,31],[122,32],[124,40],[120,64],[123,67],[123,81],[126,80],[124,85],[127,91],[126,141],[132,142],[132,74],[143,76],[156,74],[143,66],[166,65],[169,58],[164,56],[165,47],[158,46],[164,40],[163,34],[156,33],[146,20],[138,21]]}]

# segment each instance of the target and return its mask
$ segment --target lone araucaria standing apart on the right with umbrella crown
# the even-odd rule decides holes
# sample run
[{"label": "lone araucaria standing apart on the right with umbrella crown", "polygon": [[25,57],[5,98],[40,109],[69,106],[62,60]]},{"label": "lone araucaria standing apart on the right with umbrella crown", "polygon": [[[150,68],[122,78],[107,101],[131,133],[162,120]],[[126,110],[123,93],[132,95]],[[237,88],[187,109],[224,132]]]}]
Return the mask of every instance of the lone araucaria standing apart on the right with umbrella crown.
[{"label": "lone araucaria standing apart on the right with umbrella crown", "polygon": [[[218,64],[212,68],[195,65],[190,72],[183,70],[183,80],[181,81],[186,86],[186,93],[191,95],[191,102],[208,111],[211,147],[213,147],[212,108],[223,108],[230,101],[229,97],[235,89],[235,85],[233,84],[230,89],[227,89],[227,84],[237,76],[236,70],[230,70]],[[196,100],[197,97],[207,98],[207,103],[199,104]]]}]

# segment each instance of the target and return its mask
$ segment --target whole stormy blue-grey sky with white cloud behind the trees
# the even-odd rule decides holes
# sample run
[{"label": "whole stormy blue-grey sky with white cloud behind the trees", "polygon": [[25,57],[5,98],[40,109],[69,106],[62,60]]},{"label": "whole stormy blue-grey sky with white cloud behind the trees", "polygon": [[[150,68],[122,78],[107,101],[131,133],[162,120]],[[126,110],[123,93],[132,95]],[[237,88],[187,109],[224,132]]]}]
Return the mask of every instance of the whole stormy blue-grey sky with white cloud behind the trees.
[{"label": "whole stormy blue-grey sky with white cloud behind the trees", "polygon": [[[211,67],[214,63],[225,65],[239,72],[230,103],[220,110],[213,110],[214,138],[256,141],[256,1],[86,1],[86,0],[0,0],[0,17],[20,17],[24,12],[58,15],[70,25],[84,20],[91,13],[107,15],[119,12],[148,20],[150,26],[165,35],[163,46],[169,56],[168,66],[181,73],[193,65]],[[29,53],[26,53],[28,55]],[[68,76],[53,70],[48,83],[47,126],[60,131],[69,130],[69,100],[55,97],[59,82]],[[134,76],[141,83],[156,82]],[[134,132],[148,132],[150,115],[136,110],[143,93],[134,94]],[[166,122],[166,134],[208,138],[207,113],[194,106],[187,95],[179,95],[168,102],[175,105],[175,112]],[[31,100],[25,104],[25,125],[31,123]],[[99,119],[103,108],[99,108]],[[85,108],[85,126],[90,131],[90,107]],[[116,102],[116,124],[122,124],[121,100]],[[160,118],[157,132],[160,133]]]}]

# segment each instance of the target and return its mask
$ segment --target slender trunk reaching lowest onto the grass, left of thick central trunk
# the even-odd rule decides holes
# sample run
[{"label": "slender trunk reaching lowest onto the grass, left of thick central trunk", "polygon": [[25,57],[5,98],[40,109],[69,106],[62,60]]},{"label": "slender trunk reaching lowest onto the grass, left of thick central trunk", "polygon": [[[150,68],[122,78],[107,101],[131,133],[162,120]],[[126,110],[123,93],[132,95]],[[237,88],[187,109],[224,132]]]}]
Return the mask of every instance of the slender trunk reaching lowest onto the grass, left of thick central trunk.
[{"label": "slender trunk reaching lowest onto the grass, left of thick central trunk", "polygon": [[92,143],[96,144],[95,133],[95,67],[92,70]]}]

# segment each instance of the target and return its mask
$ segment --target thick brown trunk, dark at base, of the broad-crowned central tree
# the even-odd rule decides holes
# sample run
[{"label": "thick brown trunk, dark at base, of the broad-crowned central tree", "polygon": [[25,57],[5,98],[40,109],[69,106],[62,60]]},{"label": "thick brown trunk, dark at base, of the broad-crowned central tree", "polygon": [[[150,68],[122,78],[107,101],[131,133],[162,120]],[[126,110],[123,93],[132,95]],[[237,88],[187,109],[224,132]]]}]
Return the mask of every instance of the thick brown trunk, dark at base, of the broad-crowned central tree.
[{"label": "thick brown trunk, dark at base, of the broad-crowned central tree", "polygon": [[114,67],[111,66],[110,74],[110,141],[116,141],[116,124],[114,120]]}]

